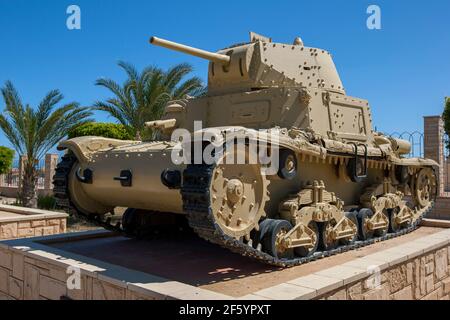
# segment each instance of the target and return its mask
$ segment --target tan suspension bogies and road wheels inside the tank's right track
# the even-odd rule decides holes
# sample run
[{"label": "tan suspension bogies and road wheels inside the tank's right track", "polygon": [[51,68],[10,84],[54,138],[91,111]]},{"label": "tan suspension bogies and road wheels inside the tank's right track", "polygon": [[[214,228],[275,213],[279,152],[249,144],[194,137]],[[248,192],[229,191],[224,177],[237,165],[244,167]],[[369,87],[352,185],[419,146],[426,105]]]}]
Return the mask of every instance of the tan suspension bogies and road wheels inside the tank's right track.
[{"label": "tan suspension bogies and road wheels inside the tank's right track", "polygon": [[335,193],[326,190],[323,181],[313,181],[280,203],[279,220],[271,219],[270,224],[262,222],[266,233],[270,232],[267,229],[271,225],[276,225],[273,221],[287,222],[282,233],[271,233],[273,243],[269,245],[265,240],[265,248],[270,246],[275,248],[270,252],[306,257],[318,250],[330,251],[339,245],[384,238],[388,233],[395,234],[410,227],[432,202],[435,176],[430,168],[411,170],[406,167],[400,172],[404,174],[403,182],[412,182],[415,186],[412,196],[420,207],[408,206],[404,193],[392,184],[390,173],[382,183],[366,187],[359,206],[352,206],[348,211]]}]

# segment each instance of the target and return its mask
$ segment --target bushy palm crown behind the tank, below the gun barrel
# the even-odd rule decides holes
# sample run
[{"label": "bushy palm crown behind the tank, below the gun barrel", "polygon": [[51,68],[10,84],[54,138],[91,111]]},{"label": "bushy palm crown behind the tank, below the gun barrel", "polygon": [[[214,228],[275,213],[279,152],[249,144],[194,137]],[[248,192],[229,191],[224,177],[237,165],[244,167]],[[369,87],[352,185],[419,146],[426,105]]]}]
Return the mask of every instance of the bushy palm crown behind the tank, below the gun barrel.
[{"label": "bushy palm crown behind the tank, below the gun barrel", "polygon": [[145,122],[161,118],[169,100],[198,96],[205,90],[198,77],[183,81],[192,72],[189,64],[179,64],[167,71],[150,66],[142,72],[123,61],[118,65],[126,72],[127,80],[121,86],[111,79],[98,79],[96,85],[109,89],[114,97],[97,101],[94,109],[116,118],[136,140],[142,140]]}]

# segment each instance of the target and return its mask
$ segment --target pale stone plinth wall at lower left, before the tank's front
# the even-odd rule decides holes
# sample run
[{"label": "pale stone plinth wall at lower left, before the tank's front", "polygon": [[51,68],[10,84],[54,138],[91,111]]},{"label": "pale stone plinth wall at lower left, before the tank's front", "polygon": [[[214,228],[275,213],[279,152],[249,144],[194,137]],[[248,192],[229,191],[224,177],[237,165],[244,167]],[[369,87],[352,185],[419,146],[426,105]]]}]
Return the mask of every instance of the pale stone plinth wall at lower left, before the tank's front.
[{"label": "pale stone plinth wall at lower left, before the tank's front", "polygon": [[[0,241],[0,300],[155,300],[229,299],[216,292],[130,270],[54,248],[52,241],[113,236],[85,231],[33,239]],[[79,288],[69,277],[76,268]],[[74,269],[73,269],[74,270]]]}]

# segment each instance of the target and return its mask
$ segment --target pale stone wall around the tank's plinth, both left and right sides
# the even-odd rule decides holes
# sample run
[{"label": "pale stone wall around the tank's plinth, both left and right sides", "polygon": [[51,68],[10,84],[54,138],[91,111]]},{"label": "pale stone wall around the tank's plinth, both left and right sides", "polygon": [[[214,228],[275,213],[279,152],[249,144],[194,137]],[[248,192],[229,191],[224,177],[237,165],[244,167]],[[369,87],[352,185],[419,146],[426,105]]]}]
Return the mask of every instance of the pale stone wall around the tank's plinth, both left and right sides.
[{"label": "pale stone wall around the tank's plinth, both left and right sides", "polygon": [[[431,222],[443,228],[440,221]],[[51,246],[58,241],[80,241],[93,236],[111,233],[94,231],[0,242],[0,299],[236,299]],[[72,274],[67,272],[69,267],[79,269],[79,289],[67,286]],[[445,229],[239,299],[449,297],[450,229]]]}]

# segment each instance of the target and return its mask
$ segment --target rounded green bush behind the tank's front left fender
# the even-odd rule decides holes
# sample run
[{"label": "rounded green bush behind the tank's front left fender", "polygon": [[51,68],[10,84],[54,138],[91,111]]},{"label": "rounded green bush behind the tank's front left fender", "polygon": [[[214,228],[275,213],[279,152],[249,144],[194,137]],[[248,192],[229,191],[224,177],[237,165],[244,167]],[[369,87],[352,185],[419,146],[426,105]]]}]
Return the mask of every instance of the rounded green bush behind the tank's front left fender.
[{"label": "rounded green bush behind the tank's front left fender", "polygon": [[84,136],[97,136],[119,140],[132,140],[133,137],[126,130],[124,125],[104,122],[88,122],[72,129],[69,139]]}]

